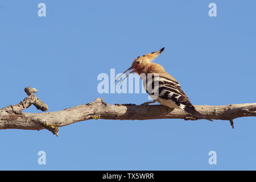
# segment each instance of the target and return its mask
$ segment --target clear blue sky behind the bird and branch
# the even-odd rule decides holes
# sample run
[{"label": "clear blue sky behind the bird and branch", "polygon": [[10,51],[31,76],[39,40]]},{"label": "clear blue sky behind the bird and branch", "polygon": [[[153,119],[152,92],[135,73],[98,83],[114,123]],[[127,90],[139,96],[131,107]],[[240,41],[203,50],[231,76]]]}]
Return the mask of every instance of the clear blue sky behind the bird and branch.
[{"label": "clear blue sky behind the bird and branch", "polygon": [[[46,3],[46,17],[38,4]],[[217,5],[209,17],[208,5]],[[0,107],[32,86],[57,111],[102,97],[142,104],[147,94],[100,94],[100,73],[166,47],[155,61],[195,105],[256,102],[256,1],[0,2]],[[31,106],[26,112],[40,112]],[[90,120],[47,130],[0,130],[0,169],[256,169],[256,118],[228,121]],[[38,151],[47,164],[39,165]],[[208,152],[217,152],[209,165]]]}]

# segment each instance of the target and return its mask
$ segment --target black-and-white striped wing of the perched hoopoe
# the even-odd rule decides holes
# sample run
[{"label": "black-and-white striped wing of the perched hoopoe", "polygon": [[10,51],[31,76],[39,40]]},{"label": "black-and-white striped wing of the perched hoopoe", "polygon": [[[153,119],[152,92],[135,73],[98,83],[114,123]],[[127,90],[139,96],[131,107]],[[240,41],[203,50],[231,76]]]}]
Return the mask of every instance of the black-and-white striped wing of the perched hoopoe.
[{"label": "black-and-white striped wing of the perched hoopoe", "polygon": [[205,118],[205,116],[200,114],[191,104],[177,81],[161,75],[152,75],[151,78],[147,77],[144,81],[146,81],[144,88],[146,92],[150,94],[151,98],[159,101],[158,97],[160,97],[163,100],[172,101],[172,103],[175,103],[177,107],[187,111],[187,113]]}]

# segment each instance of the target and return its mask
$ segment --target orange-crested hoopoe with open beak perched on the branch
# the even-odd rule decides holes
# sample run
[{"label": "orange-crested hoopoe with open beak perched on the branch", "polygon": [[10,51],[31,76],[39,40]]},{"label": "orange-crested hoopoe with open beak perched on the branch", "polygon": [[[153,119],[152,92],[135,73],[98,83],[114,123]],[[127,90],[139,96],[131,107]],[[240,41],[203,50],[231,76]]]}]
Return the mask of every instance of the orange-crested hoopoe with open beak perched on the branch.
[{"label": "orange-crested hoopoe with open beak perched on the branch", "polygon": [[[156,57],[158,57],[160,53],[163,52],[163,50],[164,47],[159,51],[151,52],[143,56],[138,56],[133,61],[131,67],[123,72],[122,75],[133,69],[133,71],[131,71],[130,73],[136,72],[142,78],[144,88],[146,92],[150,94],[150,97],[153,100],[151,102],[145,102],[142,105],[159,102],[160,104],[170,107],[172,109],[182,109],[187,113],[193,115],[193,117],[207,119],[205,115],[199,113],[191,104],[187,95],[181,89],[179,82],[177,82],[174,77],[169,75],[160,64],[151,62]],[[127,76],[129,76],[130,73]],[[146,77],[141,76],[143,75],[143,73],[144,75],[146,75]],[[148,74],[151,74],[151,79],[148,78]],[[117,80],[122,75],[120,75]],[[123,78],[123,80],[125,80],[125,78]],[[154,84],[156,79],[158,81],[158,84]],[[121,82],[119,84],[121,84]],[[150,92],[150,90],[148,89],[149,85],[151,85],[153,92]],[[211,119],[208,120],[212,121]]]}]

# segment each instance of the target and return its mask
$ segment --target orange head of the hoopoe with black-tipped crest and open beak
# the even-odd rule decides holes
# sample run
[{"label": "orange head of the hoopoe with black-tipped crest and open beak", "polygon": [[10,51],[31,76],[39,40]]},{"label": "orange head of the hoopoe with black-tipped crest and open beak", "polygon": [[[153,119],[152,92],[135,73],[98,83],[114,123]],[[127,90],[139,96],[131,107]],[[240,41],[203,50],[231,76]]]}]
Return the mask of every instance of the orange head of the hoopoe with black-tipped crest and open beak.
[{"label": "orange head of the hoopoe with black-tipped crest and open beak", "polygon": [[[125,74],[126,72],[129,72],[130,70],[133,70],[131,71],[130,73],[134,73],[134,72],[137,72],[138,74],[141,73],[141,70],[144,69],[145,67],[147,67],[148,65],[151,64],[151,61],[153,61],[156,57],[158,57],[160,55],[161,52],[163,52],[164,50],[164,47],[162,49],[160,49],[159,51],[156,51],[156,52],[151,52],[151,53],[148,53],[146,55],[143,55],[143,56],[138,56],[134,61],[133,61],[133,64],[131,64],[131,67],[128,68],[125,72],[122,73]],[[127,75],[129,76],[130,73]],[[120,75],[117,80],[122,76]],[[127,77],[126,76],[126,77]],[[125,78],[126,78],[125,77]],[[123,78],[123,80],[125,80],[125,78]],[[117,81],[115,80],[115,81]],[[122,80],[122,81],[123,81]],[[121,81],[121,82],[122,82]],[[119,84],[121,84],[121,82]]]}]

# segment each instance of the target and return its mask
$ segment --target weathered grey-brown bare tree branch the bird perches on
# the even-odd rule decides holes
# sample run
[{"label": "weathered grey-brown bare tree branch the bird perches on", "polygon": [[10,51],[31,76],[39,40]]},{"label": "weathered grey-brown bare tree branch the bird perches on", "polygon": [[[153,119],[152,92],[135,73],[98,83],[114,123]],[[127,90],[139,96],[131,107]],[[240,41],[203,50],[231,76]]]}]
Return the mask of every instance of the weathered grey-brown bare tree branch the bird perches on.
[{"label": "weathered grey-brown bare tree branch the bird perches on", "polygon": [[[185,119],[196,120],[183,110],[170,109],[163,105],[109,105],[97,98],[88,104],[47,113],[23,113],[22,110],[35,105],[37,109],[47,111],[44,104],[34,93],[35,88],[25,88],[28,97],[16,105],[0,109],[0,129],[42,130],[47,129],[53,134],[58,133],[59,127],[89,119],[118,119],[118,120],[146,120],[146,119]],[[231,104],[222,106],[195,105],[196,109],[209,119],[230,121],[234,128],[233,119],[239,117],[255,117],[256,103]]]}]

